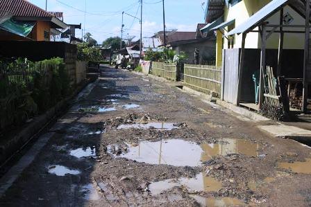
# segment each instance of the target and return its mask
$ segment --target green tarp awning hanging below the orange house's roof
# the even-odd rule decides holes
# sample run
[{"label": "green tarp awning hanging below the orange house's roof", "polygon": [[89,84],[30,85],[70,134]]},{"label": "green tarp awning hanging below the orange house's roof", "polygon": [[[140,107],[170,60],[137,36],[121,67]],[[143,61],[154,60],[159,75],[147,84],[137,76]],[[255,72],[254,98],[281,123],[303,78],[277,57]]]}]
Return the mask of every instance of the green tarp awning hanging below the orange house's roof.
[{"label": "green tarp awning hanging below the orange house's roof", "polygon": [[22,37],[27,37],[34,26],[35,22],[14,21],[12,19],[8,19],[0,24],[0,28]]}]

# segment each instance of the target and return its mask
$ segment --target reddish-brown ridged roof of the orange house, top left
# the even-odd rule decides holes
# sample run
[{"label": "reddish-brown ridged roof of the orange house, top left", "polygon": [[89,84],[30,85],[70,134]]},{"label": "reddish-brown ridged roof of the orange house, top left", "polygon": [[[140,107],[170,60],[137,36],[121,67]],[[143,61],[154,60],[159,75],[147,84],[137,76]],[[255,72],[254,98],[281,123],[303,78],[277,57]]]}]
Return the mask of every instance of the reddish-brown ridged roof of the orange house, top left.
[{"label": "reddish-brown ridged roof of the orange house, top left", "polygon": [[10,11],[15,17],[54,17],[26,0],[1,0],[0,10]]}]

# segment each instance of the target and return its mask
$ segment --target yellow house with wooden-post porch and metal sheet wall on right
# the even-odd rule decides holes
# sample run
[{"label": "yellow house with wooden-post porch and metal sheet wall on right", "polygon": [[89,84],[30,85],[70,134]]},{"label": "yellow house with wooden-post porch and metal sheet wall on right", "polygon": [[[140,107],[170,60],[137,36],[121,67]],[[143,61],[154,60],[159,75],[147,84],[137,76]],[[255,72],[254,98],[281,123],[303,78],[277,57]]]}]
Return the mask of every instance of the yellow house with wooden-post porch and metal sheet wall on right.
[{"label": "yellow house with wooden-post porch and metal sheet wall on right", "polygon": [[[301,84],[302,108],[307,110],[311,72],[306,64],[310,39],[306,3],[309,0],[208,1],[207,26],[201,31],[217,33],[216,60],[217,66],[223,66],[223,100],[262,109],[269,95],[263,77],[266,66],[271,66],[276,78],[282,75],[287,84],[293,79]],[[256,73],[260,74],[259,105],[255,105]]]}]

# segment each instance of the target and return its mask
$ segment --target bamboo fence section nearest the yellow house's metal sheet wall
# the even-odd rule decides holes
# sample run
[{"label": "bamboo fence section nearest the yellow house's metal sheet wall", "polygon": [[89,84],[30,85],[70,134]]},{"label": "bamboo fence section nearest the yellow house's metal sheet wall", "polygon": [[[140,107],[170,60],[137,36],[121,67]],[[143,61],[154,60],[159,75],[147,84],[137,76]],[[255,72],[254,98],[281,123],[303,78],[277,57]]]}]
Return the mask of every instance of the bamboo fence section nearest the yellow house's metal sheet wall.
[{"label": "bamboo fence section nearest the yellow house's metal sheet wall", "polygon": [[211,94],[217,93],[220,97],[221,93],[221,67],[209,65],[184,65],[184,82],[188,87]]}]

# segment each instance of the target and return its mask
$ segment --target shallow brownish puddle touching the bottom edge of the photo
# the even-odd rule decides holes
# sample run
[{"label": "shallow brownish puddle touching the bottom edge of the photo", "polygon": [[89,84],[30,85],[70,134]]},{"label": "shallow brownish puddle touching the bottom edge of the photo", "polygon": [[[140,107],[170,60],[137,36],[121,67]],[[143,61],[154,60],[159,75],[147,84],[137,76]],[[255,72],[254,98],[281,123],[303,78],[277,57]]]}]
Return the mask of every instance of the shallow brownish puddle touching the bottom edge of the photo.
[{"label": "shallow brownish puddle touching the bottom edge of the photo", "polygon": [[199,195],[191,195],[191,197],[196,199],[196,201],[202,206],[217,206],[217,207],[245,206],[245,204],[239,199],[230,197],[205,198]]}]

